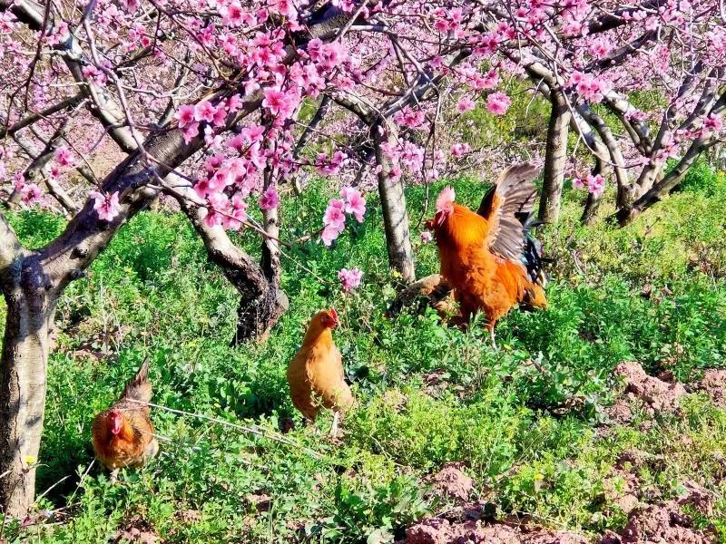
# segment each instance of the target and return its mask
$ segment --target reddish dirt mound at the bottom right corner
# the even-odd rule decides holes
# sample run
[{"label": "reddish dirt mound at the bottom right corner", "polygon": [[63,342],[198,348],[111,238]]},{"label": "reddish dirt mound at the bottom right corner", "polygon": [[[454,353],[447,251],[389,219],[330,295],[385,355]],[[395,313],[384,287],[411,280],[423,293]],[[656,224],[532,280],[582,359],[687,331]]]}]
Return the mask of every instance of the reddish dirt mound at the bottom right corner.
[{"label": "reddish dirt mound at the bottom right corner", "polygon": [[609,535],[600,544],[715,544],[716,539],[692,529],[675,501],[635,510],[620,537]]}]

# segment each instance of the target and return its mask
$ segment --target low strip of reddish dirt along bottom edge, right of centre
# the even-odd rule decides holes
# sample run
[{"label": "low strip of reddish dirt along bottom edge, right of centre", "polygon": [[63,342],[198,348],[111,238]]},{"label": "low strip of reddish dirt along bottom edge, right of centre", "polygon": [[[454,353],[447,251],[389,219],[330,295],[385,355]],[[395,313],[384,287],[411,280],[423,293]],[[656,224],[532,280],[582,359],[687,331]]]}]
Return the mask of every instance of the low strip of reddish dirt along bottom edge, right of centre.
[{"label": "low strip of reddish dirt along bottom edge, right of centre", "polygon": [[482,521],[452,523],[431,518],[406,530],[406,544],[587,544],[582,535],[546,529],[526,529]]}]

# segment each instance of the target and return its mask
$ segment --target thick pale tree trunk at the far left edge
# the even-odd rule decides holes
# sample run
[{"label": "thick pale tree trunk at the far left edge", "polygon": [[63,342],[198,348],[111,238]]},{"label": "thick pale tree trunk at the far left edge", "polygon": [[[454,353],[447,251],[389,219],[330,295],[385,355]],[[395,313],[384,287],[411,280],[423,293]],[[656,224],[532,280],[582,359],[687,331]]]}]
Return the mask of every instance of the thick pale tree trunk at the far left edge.
[{"label": "thick pale tree trunk at the far left edge", "polygon": [[18,259],[4,278],[7,316],[0,368],[0,505],[25,516],[33,505],[56,295],[41,264]]}]

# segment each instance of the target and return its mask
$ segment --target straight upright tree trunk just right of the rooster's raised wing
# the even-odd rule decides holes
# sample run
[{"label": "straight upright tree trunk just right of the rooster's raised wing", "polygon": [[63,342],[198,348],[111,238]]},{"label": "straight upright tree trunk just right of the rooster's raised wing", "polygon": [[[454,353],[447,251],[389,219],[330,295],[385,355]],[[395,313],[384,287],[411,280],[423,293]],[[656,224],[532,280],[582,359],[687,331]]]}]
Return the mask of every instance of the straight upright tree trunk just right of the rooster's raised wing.
[{"label": "straight upright tree trunk just right of the rooster's raised wing", "polygon": [[567,134],[570,129],[571,112],[564,101],[562,91],[552,90],[550,94],[552,112],[547,126],[547,147],[544,155],[544,185],[539,202],[539,219],[555,223],[560,217],[564,166],[567,161]]}]

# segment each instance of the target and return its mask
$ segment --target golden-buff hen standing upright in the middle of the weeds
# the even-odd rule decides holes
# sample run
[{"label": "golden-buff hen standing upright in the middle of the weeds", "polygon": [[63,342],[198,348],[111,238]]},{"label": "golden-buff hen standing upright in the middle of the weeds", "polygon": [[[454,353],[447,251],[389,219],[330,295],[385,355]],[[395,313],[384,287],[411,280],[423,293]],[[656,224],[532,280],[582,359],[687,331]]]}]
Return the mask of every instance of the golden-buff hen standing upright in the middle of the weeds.
[{"label": "golden-buff hen standing upright in the middle of the weeds", "polygon": [[344,380],[340,352],[333,342],[332,329],[337,325],[335,309],[316,314],[310,320],[302,345],[288,367],[292,403],[313,422],[321,406],[331,409],[334,415],[330,435],[333,437],[338,435],[340,413],[354,403],[353,394]]}]

